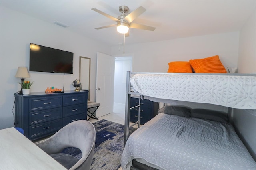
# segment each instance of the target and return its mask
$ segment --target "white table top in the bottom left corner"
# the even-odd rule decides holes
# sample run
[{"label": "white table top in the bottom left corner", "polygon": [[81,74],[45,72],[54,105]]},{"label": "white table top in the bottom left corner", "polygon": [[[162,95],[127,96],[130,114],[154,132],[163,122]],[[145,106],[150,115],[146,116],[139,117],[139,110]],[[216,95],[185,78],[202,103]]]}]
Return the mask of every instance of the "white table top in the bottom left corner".
[{"label": "white table top in the bottom left corner", "polygon": [[1,170],[66,170],[15,128],[0,130]]}]

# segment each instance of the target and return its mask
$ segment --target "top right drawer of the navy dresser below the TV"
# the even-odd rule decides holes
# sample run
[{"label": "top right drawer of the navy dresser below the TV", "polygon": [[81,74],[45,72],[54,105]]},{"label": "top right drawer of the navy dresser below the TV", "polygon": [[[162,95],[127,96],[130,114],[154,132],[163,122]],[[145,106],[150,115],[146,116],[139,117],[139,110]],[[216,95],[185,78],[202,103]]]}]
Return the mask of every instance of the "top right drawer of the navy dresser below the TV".
[{"label": "top right drawer of the navy dresser below the TV", "polygon": [[65,95],[63,96],[63,105],[75,105],[75,104],[81,104],[86,103],[86,95],[84,94],[72,94],[72,95]]}]

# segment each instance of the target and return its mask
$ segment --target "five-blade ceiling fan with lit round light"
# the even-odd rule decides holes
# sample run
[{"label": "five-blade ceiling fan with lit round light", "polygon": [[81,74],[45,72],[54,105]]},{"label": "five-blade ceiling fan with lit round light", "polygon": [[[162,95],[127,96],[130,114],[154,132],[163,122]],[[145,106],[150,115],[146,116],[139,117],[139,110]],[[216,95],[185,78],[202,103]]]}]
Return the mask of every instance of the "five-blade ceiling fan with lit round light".
[{"label": "five-blade ceiling fan with lit round light", "polygon": [[150,30],[150,31],[154,31],[156,29],[155,27],[146,26],[146,25],[142,25],[142,24],[136,24],[136,23],[132,22],[138,16],[140,16],[143,12],[146,11],[146,9],[143,8],[142,6],[140,6],[139,8],[137,8],[136,10],[134,10],[133,12],[131,12],[128,15],[126,15],[126,13],[129,12],[128,6],[124,6],[124,5],[119,6],[119,12],[121,12],[122,14],[120,16],[118,16],[118,18],[115,18],[109,14],[106,14],[105,12],[102,12],[96,8],[92,8],[92,10],[117,22],[117,24],[112,24],[112,25],[108,25],[108,26],[95,28],[97,30],[102,29],[102,28],[117,26],[116,28],[119,33],[126,34],[126,33],[128,33],[129,28],[137,28],[137,29]]}]

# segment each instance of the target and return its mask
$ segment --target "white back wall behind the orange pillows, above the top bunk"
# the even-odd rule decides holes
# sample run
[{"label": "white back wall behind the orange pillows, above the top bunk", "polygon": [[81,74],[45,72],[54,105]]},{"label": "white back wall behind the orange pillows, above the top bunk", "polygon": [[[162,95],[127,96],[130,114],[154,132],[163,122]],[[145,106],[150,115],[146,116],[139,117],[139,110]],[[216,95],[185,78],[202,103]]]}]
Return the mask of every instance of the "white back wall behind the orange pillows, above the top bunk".
[{"label": "white back wall behind the orange pillows, above the top bunk", "polygon": [[[229,32],[125,45],[125,52],[134,55],[132,71],[138,72],[167,72],[171,61],[189,61],[213,55],[219,55],[225,67],[237,67],[238,41],[239,32]],[[121,53],[118,46],[112,47],[112,55]]]}]

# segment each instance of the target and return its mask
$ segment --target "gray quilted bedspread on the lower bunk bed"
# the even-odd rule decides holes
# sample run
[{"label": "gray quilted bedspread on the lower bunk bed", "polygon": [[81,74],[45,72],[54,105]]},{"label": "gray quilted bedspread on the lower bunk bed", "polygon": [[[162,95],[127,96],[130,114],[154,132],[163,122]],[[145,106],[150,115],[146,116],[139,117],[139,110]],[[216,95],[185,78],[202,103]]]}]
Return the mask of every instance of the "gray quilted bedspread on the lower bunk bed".
[{"label": "gray quilted bedspread on the lower bunk bed", "polygon": [[126,142],[122,170],[132,159],[160,170],[255,170],[232,125],[159,113]]}]

